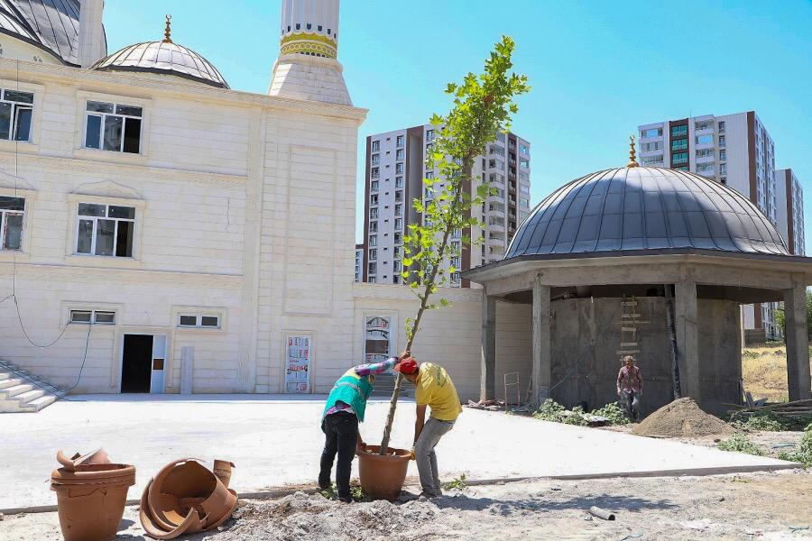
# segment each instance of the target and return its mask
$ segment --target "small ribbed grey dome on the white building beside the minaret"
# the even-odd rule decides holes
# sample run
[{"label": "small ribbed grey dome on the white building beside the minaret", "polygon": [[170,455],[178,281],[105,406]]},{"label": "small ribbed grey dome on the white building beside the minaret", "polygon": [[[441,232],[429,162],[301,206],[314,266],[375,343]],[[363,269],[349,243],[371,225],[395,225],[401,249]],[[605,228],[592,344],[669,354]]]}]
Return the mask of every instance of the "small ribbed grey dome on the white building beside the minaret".
[{"label": "small ribbed grey dome on the white building beside the minaret", "polygon": [[147,41],[130,45],[97,61],[90,69],[175,75],[212,87],[228,88],[226,79],[211,62],[194,50],[171,41]]}]

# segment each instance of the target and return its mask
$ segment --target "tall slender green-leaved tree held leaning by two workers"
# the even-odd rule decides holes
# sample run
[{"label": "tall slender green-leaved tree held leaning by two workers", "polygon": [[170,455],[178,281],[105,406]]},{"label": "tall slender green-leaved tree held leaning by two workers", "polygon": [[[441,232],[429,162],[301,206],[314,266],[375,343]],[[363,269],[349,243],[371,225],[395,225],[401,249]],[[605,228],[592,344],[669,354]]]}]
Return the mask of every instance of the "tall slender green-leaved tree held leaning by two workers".
[{"label": "tall slender green-leaved tree held leaning by two workers", "polygon": [[[461,244],[475,245],[482,242],[482,235],[471,238],[471,231],[484,228],[484,223],[471,212],[472,207],[483,205],[489,195],[494,195],[484,181],[472,190],[474,164],[497,133],[510,129],[511,115],[519,111],[513,101],[530,90],[527,77],[512,72],[513,40],[503,36],[494,51],[485,60],[484,72],[468,73],[461,84],[449,83],[446,94],[453,96],[454,106],[446,116],[434,115],[435,139],[432,143],[426,169],[434,170],[444,188],[436,188],[437,179],[423,179],[423,185],[432,195],[424,203],[416,198],[415,210],[423,216],[422,224],[409,225],[403,237],[403,280],[420,300],[416,316],[406,320],[406,348],[411,351],[415,336],[420,330],[420,320],[426,310],[448,307],[446,298],[438,304],[429,303],[429,297],[438,287],[448,284],[450,275],[457,271],[453,266],[444,269],[444,263],[460,255],[459,249],[449,245],[451,235],[460,232]],[[386,454],[392,434],[392,421],[401,393],[403,376],[399,373],[392,391],[389,415],[383,429],[380,454]]]}]

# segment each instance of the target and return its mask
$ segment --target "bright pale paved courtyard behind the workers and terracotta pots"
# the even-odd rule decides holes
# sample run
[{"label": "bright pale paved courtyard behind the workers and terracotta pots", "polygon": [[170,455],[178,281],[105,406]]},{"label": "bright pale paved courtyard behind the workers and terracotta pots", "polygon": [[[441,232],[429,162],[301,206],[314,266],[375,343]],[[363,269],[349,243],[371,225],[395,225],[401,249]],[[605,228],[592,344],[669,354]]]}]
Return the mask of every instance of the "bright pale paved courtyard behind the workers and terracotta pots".
[{"label": "bright pale paved courtyard behind the workers and terracotta pots", "polygon": [[[56,503],[49,477],[56,453],[103,446],[116,462],[133,463],[137,499],[165,463],[196,457],[235,463],[232,486],[262,491],[315,481],[323,444],[323,397],[268,395],[76,396],[37,414],[0,416],[0,510]],[[388,401],[369,404],[361,434],[376,443]],[[392,445],[409,448],[414,407],[401,402]],[[466,409],[438,446],[440,476],[501,479],[614,473],[706,473],[780,468],[789,463],[747,454],[610,431]],[[354,469],[354,472],[356,470]],[[410,475],[417,474],[414,463]],[[9,490],[8,487],[14,487]]]}]

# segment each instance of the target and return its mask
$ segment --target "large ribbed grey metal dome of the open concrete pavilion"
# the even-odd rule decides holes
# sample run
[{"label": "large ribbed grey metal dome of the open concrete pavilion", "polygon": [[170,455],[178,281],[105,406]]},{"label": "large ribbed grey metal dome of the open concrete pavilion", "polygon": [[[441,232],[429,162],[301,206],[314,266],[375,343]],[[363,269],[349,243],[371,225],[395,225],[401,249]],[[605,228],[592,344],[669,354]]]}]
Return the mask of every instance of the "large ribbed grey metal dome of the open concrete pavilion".
[{"label": "large ribbed grey metal dome of the open concrete pavilion", "polygon": [[504,259],[677,249],[789,255],[767,216],[733,189],[683,171],[632,167],[558,188],[524,220]]}]

